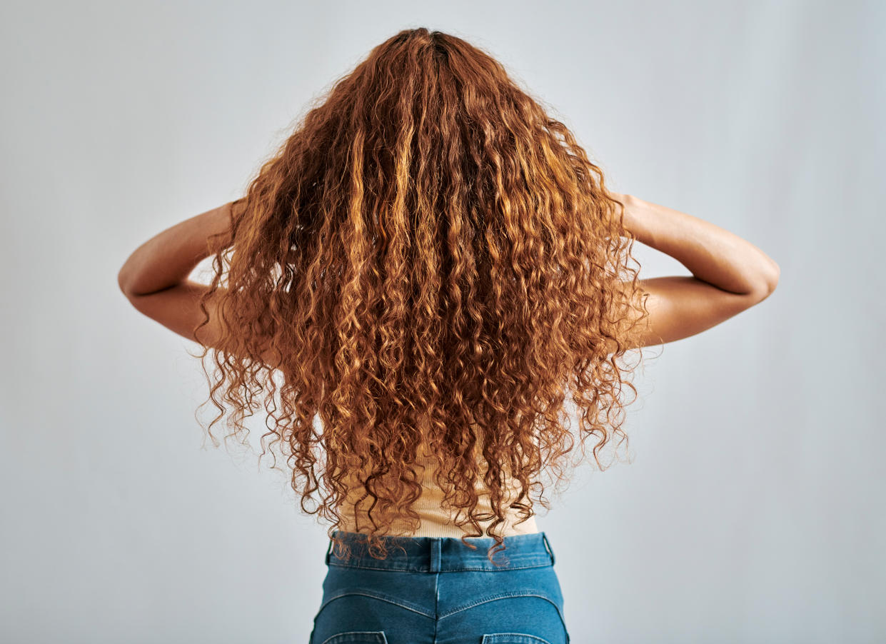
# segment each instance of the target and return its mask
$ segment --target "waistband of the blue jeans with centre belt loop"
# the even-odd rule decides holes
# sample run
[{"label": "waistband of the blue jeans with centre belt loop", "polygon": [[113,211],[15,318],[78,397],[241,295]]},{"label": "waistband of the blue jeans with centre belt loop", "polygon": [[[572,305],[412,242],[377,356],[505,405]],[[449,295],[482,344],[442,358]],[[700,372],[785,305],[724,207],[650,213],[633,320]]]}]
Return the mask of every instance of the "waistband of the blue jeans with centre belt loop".
[{"label": "waistband of the blue jeans with centre belt loop", "polygon": [[326,549],[327,566],[343,566],[369,570],[402,570],[411,572],[453,572],[457,570],[517,570],[554,565],[554,549],[543,531],[504,537],[504,550],[486,556],[495,543],[492,537],[468,537],[471,549],[455,537],[400,537],[385,535],[387,555],[376,559],[369,555],[366,535],[361,532],[334,531],[344,539],[351,555],[342,558],[330,539]]}]

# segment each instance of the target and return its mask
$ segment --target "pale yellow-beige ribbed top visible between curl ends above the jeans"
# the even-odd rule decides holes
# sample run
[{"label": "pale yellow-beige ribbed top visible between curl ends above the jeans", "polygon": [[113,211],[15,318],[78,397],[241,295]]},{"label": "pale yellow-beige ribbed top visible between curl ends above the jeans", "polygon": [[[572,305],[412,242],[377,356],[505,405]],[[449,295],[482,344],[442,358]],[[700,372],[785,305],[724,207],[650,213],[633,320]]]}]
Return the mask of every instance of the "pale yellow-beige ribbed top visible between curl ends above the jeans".
[{"label": "pale yellow-beige ribbed top visible between curl ends above the jeans", "polygon": [[[477,454],[480,454],[481,446],[477,446]],[[424,470],[419,468],[419,472],[422,477],[422,494],[416,499],[416,501],[412,504],[412,508],[416,510],[418,516],[421,520],[421,524],[418,526],[417,530],[410,530],[408,527],[408,522],[404,519],[403,521],[397,520],[392,524],[390,529],[390,534],[400,535],[400,536],[409,536],[409,537],[455,537],[461,538],[462,535],[467,533],[467,530],[470,529],[469,526],[465,525],[463,527],[455,525],[455,511],[447,511],[447,509],[442,507],[443,501],[443,491],[439,488],[434,482],[434,470],[435,463],[430,457],[430,454],[427,451],[424,451],[424,454],[419,454],[416,459],[418,463],[424,465]],[[485,493],[485,486],[482,485],[482,477],[479,477],[478,485],[475,487],[478,493],[478,510],[481,513],[492,513],[492,504],[490,503],[488,493]],[[517,493],[519,492],[520,486],[517,482],[510,483],[509,489],[513,491],[508,497],[508,500],[502,501],[501,506],[505,508],[505,523],[498,526],[497,531],[501,531],[500,533],[504,536],[511,536],[516,534],[529,534],[538,532],[538,525],[535,523],[535,516],[532,515],[528,519],[526,519],[523,523],[517,524],[520,516],[518,515],[517,509],[509,508],[509,501],[517,499]],[[366,511],[366,508],[369,508],[371,505],[372,499],[367,497],[363,499],[361,503],[358,505],[358,509],[354,509],[354,501],[360,499],[364,490],[361,485],[355,485],[353,489],[353,493],[351,493],[346,502],[339,506],[338,511],[342,516],[341,521],[336,526],[338,530],[341,531],[368,531],[367,526],[371,525],[369,522],[369,515]],[[360,516],[360,530],[357,530],[357,523],[355,520],[355,516]],[[464,516],[464,512],[462,511],[462,516]],[[492,521],[480,522],[480,525],[485,529],[486,526],[492,524]]]}]

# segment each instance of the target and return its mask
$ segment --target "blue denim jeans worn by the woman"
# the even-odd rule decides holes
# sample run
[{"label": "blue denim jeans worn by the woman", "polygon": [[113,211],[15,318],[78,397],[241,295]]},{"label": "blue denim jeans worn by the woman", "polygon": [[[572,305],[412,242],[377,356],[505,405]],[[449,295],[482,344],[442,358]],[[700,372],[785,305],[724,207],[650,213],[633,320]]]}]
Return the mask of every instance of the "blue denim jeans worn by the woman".
[{"label": "blue denim jeans worn by the woman", "polygon": [[[504,538],[385,536],[387,557],[366,551],[365,535],[330,539],[323,600],[309,644],[568,644],[554,551],[544,532]],[[403,549],[400,550],[399,547]],[[507,561],[506,561],[507,559]]]}]

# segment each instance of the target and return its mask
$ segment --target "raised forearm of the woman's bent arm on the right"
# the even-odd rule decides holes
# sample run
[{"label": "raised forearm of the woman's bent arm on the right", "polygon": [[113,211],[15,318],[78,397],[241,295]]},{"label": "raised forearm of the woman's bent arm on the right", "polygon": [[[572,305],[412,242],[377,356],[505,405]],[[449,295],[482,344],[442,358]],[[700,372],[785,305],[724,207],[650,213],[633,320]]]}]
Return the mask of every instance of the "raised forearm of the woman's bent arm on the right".
[{"label": "raised forearm of the woman's bent arm on the right", "polygon": [[625,226],[634,237],[670,255],[698,279],[734,293],[774,288],[778,265],[749,241],[691,214],[633,195],[625,203]]}]

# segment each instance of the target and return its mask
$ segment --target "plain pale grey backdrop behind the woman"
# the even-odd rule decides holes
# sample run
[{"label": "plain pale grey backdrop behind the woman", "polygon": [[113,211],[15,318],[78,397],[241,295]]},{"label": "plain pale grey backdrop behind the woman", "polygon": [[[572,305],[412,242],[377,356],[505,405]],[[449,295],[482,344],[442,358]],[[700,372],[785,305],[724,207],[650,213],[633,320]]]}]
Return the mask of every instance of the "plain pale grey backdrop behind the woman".
[{"label": "plain pale grey backdrop behind the woman", "polygon": [[[0,640],[307,641],[325,524],[283,475],[205,444],[198,346],[117,271],[240,196],[310,100],[421,26],[499,58],[613,190],[781,266],[759,306],[644,350],[629,454],[540,508],[572,641],[886,638],[884,4],[0,12]],[[688,275],[637,253],[641,276]]]}]

